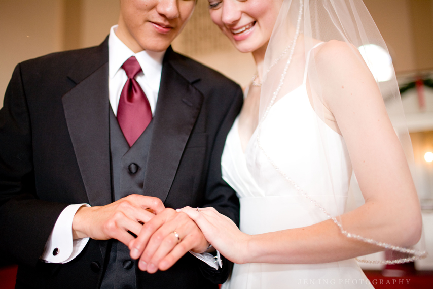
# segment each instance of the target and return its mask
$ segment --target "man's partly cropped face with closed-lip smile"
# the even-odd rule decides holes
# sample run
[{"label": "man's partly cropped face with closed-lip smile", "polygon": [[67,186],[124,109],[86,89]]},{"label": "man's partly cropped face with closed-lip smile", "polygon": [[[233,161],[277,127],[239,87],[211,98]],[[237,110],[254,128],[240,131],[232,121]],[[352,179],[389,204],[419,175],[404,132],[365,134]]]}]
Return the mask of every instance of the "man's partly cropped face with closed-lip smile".
[{"label": "man's partly cropped face with closed-lip smile", "polygon": [[196,0],[120,0],[117,37],[135,53],[164,51],[182,31]]}]

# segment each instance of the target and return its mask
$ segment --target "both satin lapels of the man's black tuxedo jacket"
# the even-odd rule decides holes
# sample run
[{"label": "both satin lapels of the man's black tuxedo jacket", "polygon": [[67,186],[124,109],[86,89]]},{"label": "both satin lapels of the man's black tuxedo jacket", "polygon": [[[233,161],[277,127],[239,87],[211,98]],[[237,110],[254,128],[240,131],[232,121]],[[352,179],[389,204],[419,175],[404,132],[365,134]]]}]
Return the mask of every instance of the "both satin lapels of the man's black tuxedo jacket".
[{"label": "both satin lapels of the man's black tuxedo jacket", "polygon": [[[95,48],[96,49],[96,48]],[[77,85],[63,96],[69,135],[89,203],[111,203],[110,128],[107,41],[84,69],[77,66],[69,78]],[[89,72],[90,71],[90,72]],[[192,84],[200,78],[168,48],[154,116],[143,194],[167,198],[198,114],[203,95]]]}]

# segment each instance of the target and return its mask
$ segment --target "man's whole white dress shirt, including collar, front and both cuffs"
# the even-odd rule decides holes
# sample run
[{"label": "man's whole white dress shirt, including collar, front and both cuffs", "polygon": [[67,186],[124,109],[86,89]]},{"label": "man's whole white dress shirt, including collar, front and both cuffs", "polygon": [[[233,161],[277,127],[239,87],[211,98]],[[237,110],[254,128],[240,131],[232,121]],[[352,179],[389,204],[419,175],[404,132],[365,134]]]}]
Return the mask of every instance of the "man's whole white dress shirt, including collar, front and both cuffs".
[{"label": "man's whole white dress shirt, including collar, front and both cuffs", "polygon": [[[161,83],[162,60],[165,51],[153,52],[143,50],[134,53],[116,36],[116,30],[117,25],[111,27],[108,40],[109,98],[113,112],[117,115],[120,94],[128,80],[125,71],[122,69],[122,65],[129,57],[135,56],[142,69],[142,72],[136,75],[135,80],[146,93],[152,114],[154,114]],[[74,216],[77,210],[82,206],[90,207],[89,204],[74,204],[69,205],[61,212],[45,244],[44,253],[41,256],[42,261],[49,263],[67,263],[76,258],[84,249],[89,238],[73,240],[71,230]],[[191,253],[215,269],[218,269],[219,266],[222,267],[219,252],[217,252],[216,261],[215,258],[208,253]]]}]

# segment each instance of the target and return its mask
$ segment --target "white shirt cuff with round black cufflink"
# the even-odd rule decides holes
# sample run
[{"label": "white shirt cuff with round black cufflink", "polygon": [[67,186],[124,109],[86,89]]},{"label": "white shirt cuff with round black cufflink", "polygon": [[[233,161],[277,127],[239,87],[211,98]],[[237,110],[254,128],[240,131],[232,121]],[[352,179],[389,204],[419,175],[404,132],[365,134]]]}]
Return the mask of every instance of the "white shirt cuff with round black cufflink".
[{"label": "white shirt cuff with round black cufflink", "polygon": [[44,253],[41,260],[47,263],[67,263],[86,246],[89,238],[73,240],[72,222],[78,209],[82,206],[90,207],[89,204],[74,204],[67,206],[57,218],[53,231],[45,243]]}]

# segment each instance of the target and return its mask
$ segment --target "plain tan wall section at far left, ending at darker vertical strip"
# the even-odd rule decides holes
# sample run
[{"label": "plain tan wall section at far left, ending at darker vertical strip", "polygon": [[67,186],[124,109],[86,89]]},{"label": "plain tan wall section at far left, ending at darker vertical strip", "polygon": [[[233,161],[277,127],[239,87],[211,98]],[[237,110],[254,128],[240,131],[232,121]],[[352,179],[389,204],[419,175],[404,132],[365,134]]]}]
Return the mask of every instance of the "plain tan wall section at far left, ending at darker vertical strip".
[{"label": "plain tan wall section at far left, ending at darker vertical strip", "polygon": [[0,107],[18,62],[62,49],[63,3],[0,1]]}]

